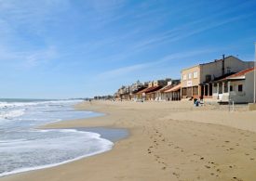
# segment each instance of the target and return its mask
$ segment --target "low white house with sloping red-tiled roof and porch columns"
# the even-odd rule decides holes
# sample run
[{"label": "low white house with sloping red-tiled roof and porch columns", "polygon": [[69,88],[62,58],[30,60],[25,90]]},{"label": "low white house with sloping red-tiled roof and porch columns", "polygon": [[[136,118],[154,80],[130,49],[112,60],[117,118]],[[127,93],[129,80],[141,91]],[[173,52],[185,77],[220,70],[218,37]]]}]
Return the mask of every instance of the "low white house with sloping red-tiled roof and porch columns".
[{"label": "low white house with sloping red-tiled roof and porch columns", "polygon": [[212,82],[213,100],[219,103],[251,103],[253,102],[254,68],[239,71],[230,76],[226,76],[218,81]]}]

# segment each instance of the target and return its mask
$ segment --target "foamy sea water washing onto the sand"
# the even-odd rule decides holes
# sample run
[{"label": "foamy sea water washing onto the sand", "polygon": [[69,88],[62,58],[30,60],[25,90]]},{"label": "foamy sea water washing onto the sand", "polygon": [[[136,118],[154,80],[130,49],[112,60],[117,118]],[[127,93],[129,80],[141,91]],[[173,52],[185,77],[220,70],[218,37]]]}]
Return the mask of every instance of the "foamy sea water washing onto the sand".
[{"label": "foamy sea water washing onto the sand", "polygon": [[71,162],[112,149],[113,142],[78,129],[36,129],[98,116],[74,110],[82,100],[0,99],[0,176]]}]

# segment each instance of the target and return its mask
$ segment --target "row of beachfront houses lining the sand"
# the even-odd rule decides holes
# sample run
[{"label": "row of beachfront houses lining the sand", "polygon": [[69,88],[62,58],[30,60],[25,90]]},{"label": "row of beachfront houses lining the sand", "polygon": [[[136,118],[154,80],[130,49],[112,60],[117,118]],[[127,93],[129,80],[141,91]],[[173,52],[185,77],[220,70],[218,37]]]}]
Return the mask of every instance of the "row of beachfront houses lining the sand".
[{"label": "row of beachfront houses lining the sand", "polygon": [[122,86],[115,93],[119,100],[204,99],[225,103],[253,102],[254,62],[222,56],[181,71],[181,80],[156,80]]}]

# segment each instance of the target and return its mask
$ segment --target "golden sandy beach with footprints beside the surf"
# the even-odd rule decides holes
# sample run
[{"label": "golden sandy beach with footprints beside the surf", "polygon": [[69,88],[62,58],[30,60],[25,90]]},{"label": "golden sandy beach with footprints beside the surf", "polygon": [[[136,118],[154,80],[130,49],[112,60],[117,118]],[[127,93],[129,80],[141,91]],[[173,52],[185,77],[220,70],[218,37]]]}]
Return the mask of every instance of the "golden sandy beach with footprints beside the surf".
[{"label": "golden sandy beach with footprints beside the surf", "polygon": [[0,181],[256,180],[256,111],[191,102],[92,101],[76,106],[105,116],[45,128],[127,128],[111,151]]}]

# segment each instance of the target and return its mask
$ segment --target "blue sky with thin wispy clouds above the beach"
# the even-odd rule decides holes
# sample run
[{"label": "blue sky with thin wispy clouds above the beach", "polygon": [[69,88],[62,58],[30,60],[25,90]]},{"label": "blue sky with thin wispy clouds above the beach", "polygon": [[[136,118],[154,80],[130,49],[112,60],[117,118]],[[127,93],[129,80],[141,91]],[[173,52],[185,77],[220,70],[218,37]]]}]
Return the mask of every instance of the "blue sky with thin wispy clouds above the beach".
[{"label": "blue sky with thin wispy clouds above the beach", "polygon": [[0,98],[113,95],[233,55],[254,60],[255,0],[0,0]]}]

